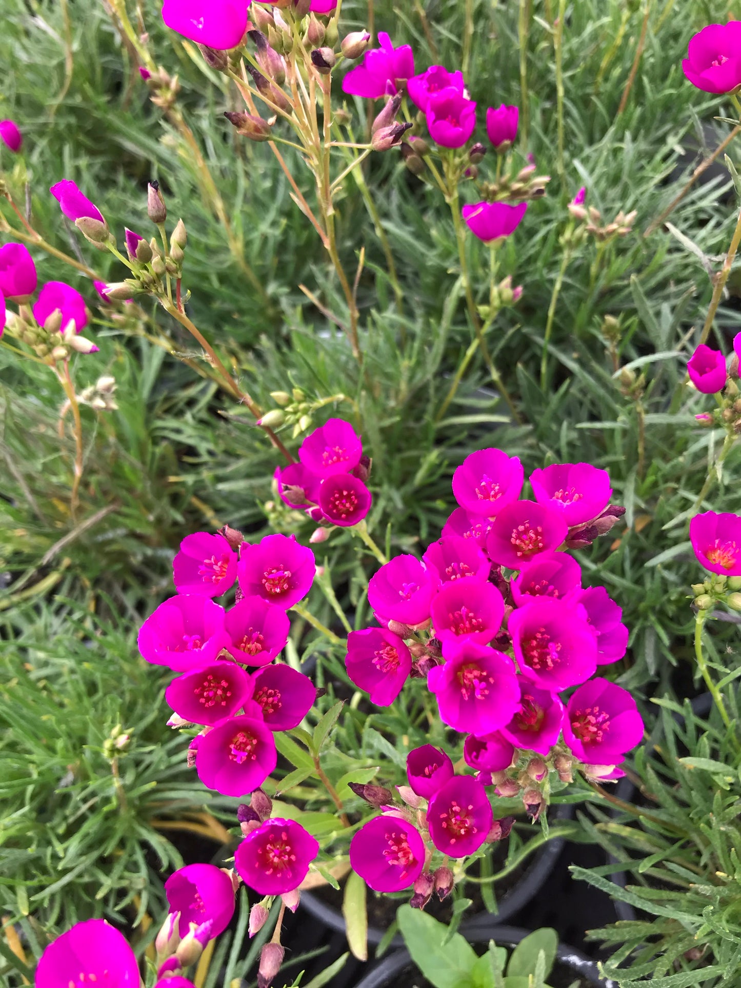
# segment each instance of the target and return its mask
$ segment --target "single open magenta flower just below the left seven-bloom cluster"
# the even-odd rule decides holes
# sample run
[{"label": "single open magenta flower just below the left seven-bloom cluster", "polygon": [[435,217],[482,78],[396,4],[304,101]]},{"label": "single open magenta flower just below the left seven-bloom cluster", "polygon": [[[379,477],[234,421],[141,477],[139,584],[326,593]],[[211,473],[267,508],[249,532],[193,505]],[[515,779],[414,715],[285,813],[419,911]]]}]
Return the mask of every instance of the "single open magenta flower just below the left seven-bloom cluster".
[{"label": "single open magenta flower just below the left seven-bloom cluster", "polygon": [[298,888],[318,854],[318,842],[300,823],[275,817],[245,837],[234,867],[258,895],[285,895]]}]

